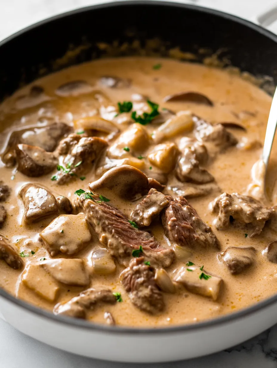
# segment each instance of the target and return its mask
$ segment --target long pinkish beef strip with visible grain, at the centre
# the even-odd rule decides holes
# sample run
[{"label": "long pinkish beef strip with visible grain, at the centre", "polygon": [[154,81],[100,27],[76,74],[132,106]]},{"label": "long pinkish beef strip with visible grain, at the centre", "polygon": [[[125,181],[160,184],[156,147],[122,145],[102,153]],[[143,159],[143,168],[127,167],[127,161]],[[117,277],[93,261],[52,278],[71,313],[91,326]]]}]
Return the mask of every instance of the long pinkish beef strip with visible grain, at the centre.
[{"label": "long pinkish beef strip with visible grain, at the centre", "polygon": [[[156,262],[159,258],[161,263],[165,262],[164,254],[160,252],[164,249],[153,236],[132,226],[120,210],[105,202],[96,202],[97,200],[99,200],[97,196],[94,196],[93,200],[85,199],[84,195],[79,198],[86,220],[98,234],[100,243],[117,258],[119,263],[127,265],[132,251],[139,249],[140,246],[143,251],[153,253]],[[168,250],[166,262],[172,263],[174,259],[174,251]]]}]

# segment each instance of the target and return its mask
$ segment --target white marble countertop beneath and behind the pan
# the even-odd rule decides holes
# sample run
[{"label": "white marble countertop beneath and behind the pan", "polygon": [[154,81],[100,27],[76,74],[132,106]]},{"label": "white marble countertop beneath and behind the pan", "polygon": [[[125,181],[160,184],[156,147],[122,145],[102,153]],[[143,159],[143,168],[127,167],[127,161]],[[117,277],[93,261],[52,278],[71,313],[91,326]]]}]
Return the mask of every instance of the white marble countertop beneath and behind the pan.
[{"label": "white marble countertop beneath and behind the pan", "polygon": [[[267,10],[274,0],[181,1],[216,8],[250,20]],[[107,0],[0,0],[0,40],[52,15]],[[277,24],[270,27],[277,33]],[[145,365],[144,365],[145,366]],[[0,319],[0,368],[138,368],[65,353],[31,339]],[[149,366],[149,365],[148,365]],[[277,368],[277,325],[240,346],[183,362],[153,364],[153,368]]]}]

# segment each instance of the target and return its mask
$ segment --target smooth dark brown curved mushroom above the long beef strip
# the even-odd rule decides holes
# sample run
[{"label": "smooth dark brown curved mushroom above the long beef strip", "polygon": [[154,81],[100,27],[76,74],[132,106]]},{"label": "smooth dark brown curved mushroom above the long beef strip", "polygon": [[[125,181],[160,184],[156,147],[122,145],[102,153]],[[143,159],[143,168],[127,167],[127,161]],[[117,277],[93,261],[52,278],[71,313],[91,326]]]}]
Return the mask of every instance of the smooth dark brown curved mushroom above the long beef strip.
[{"label": "smooth dark brown curved mushroom above the long beef strip", "polygon": [[111,190],[120,198],[135,199],[148,192],[148,177],[133,166],[122,165],[108,170],[100,179],[89,184],[92,192]]}]

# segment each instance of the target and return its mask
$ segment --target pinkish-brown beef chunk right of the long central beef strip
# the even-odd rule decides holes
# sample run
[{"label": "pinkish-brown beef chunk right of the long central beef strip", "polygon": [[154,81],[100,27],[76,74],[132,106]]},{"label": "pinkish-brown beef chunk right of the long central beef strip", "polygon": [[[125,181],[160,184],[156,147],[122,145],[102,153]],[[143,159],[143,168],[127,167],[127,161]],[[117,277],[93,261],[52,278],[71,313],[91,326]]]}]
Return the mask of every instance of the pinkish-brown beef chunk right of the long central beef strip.
[{"label": "pinkish-brown beef chunk right of the long central beef strip", "polygon": [[164,230],[170,241],[188,248],[219,248],[219,241],[210,226],[198,216],[184,197],[170,201],[162,215]]}]

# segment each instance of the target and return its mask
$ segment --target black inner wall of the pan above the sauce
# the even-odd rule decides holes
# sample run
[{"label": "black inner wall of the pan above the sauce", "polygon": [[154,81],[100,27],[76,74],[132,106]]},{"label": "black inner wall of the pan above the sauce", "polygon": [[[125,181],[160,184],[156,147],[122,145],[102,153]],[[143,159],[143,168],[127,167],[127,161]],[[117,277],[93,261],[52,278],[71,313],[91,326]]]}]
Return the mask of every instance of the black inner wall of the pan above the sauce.
[{"label": "black inner wall of the pan above the sauce", "polygon": [[[31,26],[0,43],[0,101],[18,87],[67,66],[100,57],[99,42],[118,45],[159,38],[156,52],[180,47],[197,54],[221,49],[233,66],[277,82],[277,36],[231,15],[194,6],[132,1],[83,8]],[[152,50],[153,51],[153,50]],[[128,47],[121,54],[134,54]],[[120,53],[116,53],[118,55]],[[206,55],[205,55],[206,56]]]}]

